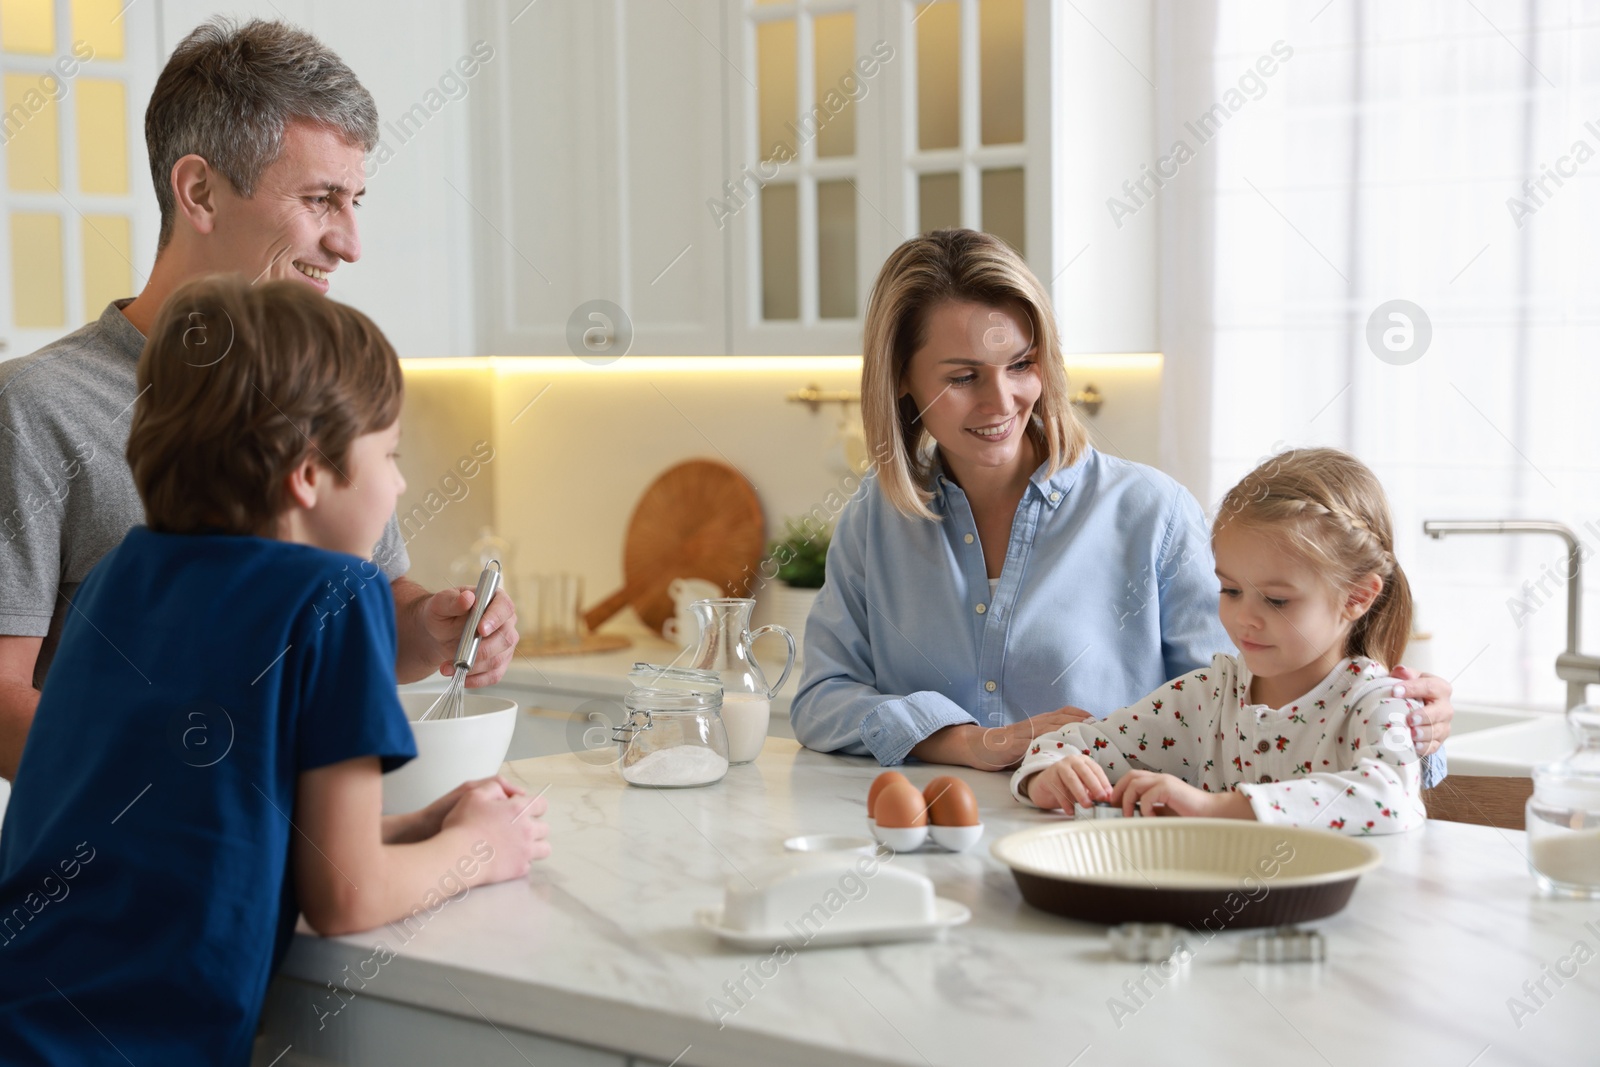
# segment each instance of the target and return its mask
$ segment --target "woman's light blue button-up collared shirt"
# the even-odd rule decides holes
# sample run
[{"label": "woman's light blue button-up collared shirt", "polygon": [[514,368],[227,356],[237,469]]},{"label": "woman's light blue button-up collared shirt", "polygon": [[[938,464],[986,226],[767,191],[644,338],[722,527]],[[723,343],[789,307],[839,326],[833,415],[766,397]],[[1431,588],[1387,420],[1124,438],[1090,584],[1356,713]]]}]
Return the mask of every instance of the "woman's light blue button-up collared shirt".
[{"label": "woman's light blue button-up collared shirt", "polygon": [[944,726],[1107,715],[1234,651],[1205,515],[1160,470],[1094,448],[1035,470],[994,597],[966,494],[938,467],[933,488],[939,522],[875,477],[840,517],[790,710],[806,747],[893,766]]}]

